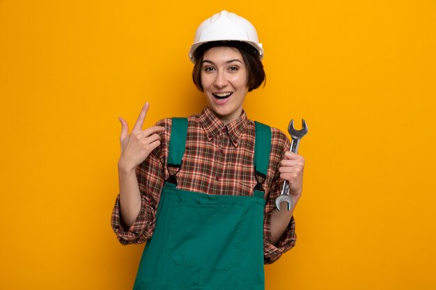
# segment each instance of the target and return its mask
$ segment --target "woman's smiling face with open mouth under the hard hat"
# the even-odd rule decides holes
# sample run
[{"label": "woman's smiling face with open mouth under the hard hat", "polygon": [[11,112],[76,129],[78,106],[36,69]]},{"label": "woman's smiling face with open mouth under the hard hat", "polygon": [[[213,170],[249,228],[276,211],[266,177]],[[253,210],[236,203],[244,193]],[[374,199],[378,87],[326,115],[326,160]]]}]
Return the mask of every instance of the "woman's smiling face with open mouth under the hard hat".
[{"label": "woman's smiling face with open mouth under the hard hat", "polygon": [[238,49],[212,47],[203,55],[201,85],[208,106],[224,124],[242,114],[247,81],[247,68]]}]

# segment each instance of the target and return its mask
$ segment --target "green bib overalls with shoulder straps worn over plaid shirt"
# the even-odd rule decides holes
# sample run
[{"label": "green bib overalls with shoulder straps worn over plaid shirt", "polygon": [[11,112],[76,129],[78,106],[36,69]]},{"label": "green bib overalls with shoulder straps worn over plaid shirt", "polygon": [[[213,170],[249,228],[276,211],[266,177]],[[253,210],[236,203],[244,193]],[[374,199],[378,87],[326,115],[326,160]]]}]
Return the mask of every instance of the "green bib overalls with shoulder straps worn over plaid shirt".
[{"label": "green bib overalls with shoulder straps worn over plaid shirt", "polygon": [[[173,118],[169,167],[182,168],[186,136],[187,118]],[[266,176],[270,147],[270,127],[256,122],[256,178]],[[134,290],[264,290],[264,194],[261,184],[252,196],[183,191],[170,175]]]}]

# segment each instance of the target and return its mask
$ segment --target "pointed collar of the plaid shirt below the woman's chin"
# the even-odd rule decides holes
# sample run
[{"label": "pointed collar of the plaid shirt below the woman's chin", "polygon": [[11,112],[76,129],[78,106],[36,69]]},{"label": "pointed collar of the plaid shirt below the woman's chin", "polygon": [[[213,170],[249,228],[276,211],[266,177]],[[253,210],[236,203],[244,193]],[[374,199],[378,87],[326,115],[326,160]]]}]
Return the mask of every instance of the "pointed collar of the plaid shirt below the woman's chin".
[{"label": "pointed collar of the plaid shirt below the woman's chin", "polygon": [[238,119],[233,120],[225,125],[223,122],[221,122],[221,120],[219,120],[219,118],[217,118],[217,116],[212,112],[212,110],[210,110],[208,106],[203,108],[199,119],[209,141],[215,138],[221,129],[226,127],[228,136],[235,147],[238,147],[238,141],[240,140],[245,127],[247,127],[248,121],[247,114],[245,111],[242,111],[242,115],[240,115]]}]

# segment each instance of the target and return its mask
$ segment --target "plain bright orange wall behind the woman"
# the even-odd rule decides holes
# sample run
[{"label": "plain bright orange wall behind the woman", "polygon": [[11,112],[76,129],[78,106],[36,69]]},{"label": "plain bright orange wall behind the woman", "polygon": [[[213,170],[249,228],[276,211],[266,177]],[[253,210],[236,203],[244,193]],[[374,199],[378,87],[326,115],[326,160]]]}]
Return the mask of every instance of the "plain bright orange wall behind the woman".
[{"label": "plain bright orange wall behind the woman", "polygon": [[265,47],[249,118],[309,134],[297,246],[266,289],[436,289],[435,1],[0,0],[0,289],[131,289],[109,225],[118,115],[197,113],[187,58],[227,9]]}]

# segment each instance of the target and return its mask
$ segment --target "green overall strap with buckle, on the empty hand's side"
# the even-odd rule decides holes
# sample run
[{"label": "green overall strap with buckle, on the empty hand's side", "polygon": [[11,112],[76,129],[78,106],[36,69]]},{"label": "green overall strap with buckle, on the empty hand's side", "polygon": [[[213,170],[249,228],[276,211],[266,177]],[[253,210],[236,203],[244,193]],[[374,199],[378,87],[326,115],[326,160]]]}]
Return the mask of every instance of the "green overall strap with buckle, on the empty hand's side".
[{"label": "green overall strap with buckle, on the empty hand's side", "polygon": [[[169,139],[169,154],[168,154],[167,168],[176,167],[179,168],[180,170],[180,167],[182,166],[183,154],[185,153],[188,119],[171,118],[171,120],[173,124],[171,125],[171,137]],[[177,184],[177,180],[176,180],[177,172],[173,175],[171,175],[170,172],[169,178],[166,180],[166,182]]]}]

